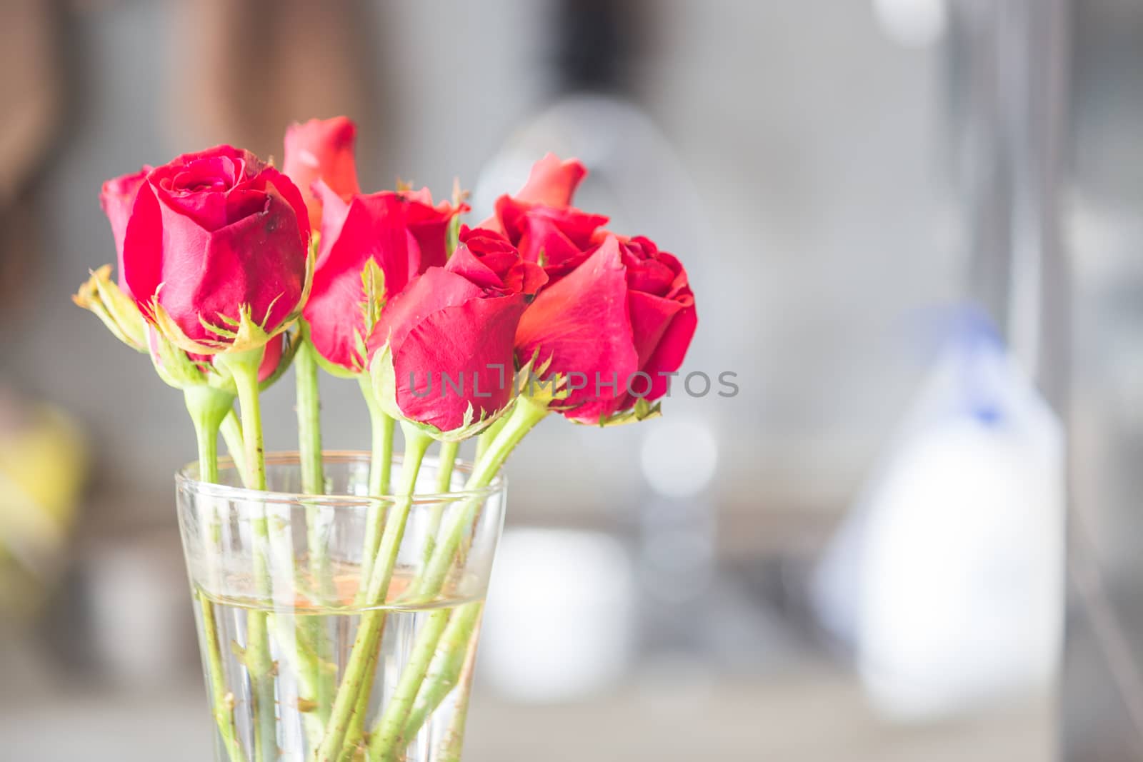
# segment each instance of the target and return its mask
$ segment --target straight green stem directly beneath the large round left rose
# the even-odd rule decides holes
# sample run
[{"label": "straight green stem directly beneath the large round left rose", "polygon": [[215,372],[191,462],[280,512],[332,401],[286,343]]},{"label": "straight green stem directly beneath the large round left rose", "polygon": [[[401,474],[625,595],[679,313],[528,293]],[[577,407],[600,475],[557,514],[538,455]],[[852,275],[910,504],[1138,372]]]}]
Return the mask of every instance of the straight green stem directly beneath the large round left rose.
[{"label": "straight green stem directly beneath the large round left rose", "polygon": [[[246,486],[266,489],[266,464],[262,444],[262,407],[258,400],[258,366],[264,347],[247,352],[223,352],[215,355],[215,367],[229,371],[238,391],[246,446]],[[269,569],[270,529],[263,514],[250,521],[254,550],[254,585],[264,600],[271,597]],[[270,652],[269,617],[265,611],[247,615],[246,668],[250,674],[254,703],[254,755],[259,761],[278,757],[277,717],[274,708],[274,663]]]}]

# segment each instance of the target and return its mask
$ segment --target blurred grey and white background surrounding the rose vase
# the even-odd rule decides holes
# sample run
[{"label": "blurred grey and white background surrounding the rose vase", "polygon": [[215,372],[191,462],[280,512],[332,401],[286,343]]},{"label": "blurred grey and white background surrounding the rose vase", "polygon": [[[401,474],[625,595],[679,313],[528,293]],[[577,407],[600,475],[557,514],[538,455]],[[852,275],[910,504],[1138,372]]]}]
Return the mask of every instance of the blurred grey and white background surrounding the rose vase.
[{"label": "blurred grey and white background surrounding the rose vase", "polygon": [[1141,51],[1130,0],[0,3],[0,760],[208,759],[191,427],[69,296],[105,178],[341,113],[477,219],[580,157],[740,388],[513,458],[465,759],[1143,759]]}]

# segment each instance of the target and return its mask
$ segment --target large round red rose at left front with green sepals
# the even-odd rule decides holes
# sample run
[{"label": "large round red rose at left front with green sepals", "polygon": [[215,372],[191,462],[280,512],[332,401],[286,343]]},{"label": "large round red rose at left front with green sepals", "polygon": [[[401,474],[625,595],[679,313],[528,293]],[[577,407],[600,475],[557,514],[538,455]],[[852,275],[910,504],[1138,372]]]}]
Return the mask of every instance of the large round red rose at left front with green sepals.
[{"label": "large round red rose at left front with green sepals", "polygon": [[127,224],[122,279],[147,320],[184,350],[256,348],[301,308],[309,241],[305,203],[289,178],[218,146],[146,176]]}]

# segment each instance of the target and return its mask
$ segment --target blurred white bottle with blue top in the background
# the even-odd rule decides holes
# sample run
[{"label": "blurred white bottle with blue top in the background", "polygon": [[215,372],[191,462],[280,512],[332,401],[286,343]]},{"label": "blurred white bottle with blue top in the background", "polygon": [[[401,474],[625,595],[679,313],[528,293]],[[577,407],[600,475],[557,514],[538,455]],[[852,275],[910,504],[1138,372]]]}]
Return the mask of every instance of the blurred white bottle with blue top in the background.
[{"label": "blurred white bottle with blue top in the background", "polygon": [[880,709],[928,720],[1048,689],[1064,505],[1058,420],[967,316],[816,579]]}]

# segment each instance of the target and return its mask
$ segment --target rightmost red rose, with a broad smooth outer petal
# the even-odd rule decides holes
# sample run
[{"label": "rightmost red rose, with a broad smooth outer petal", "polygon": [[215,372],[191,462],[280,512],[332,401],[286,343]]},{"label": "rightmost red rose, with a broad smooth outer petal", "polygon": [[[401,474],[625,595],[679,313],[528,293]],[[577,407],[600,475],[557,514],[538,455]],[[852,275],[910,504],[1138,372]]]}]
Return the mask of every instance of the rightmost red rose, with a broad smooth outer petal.
[{"label": "rightmost red rose, with a broad smooth outer petal", "polygon": [[[612,233],[567,276],[544,289],[517,331],[538,383],[559,378],[551,408],[585,424],[646,417],[679,369],[697,318],[687,272],[646,238]],[[529,386],[537,383],[529,382]]]}]

